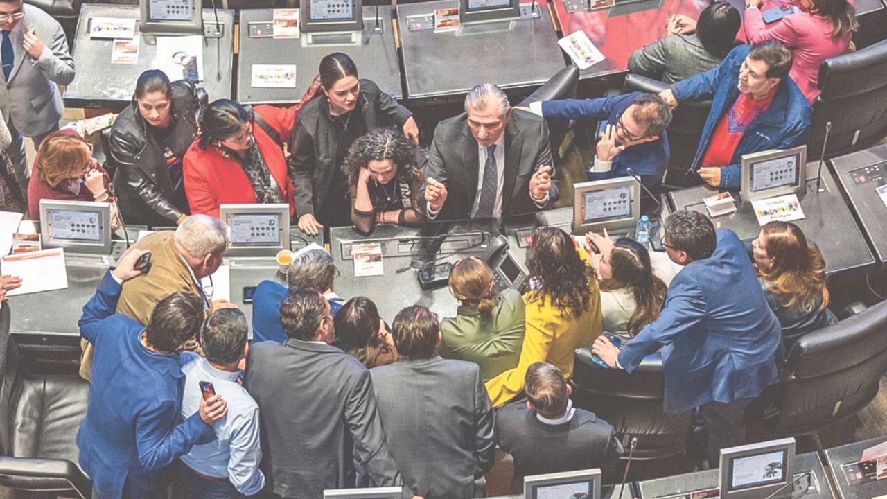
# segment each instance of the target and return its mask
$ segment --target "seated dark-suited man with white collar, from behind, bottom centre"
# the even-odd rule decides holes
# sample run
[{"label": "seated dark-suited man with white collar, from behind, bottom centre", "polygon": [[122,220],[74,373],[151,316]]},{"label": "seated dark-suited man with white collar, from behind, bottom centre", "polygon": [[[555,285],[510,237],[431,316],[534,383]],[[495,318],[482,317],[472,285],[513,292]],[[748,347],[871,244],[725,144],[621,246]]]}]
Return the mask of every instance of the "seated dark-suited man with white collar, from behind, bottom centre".
[{"label": "seated dark-suited man with white collar, from behind, bottom centre", "polygon": [[496,415],[498,445],[514,457],[512,493],[523,491],[525,476],[616,464],[624,452],[616,432],[593,413],[573,408],[561,369],[531,364],[523,391],[525,405],[505,406]]}]

